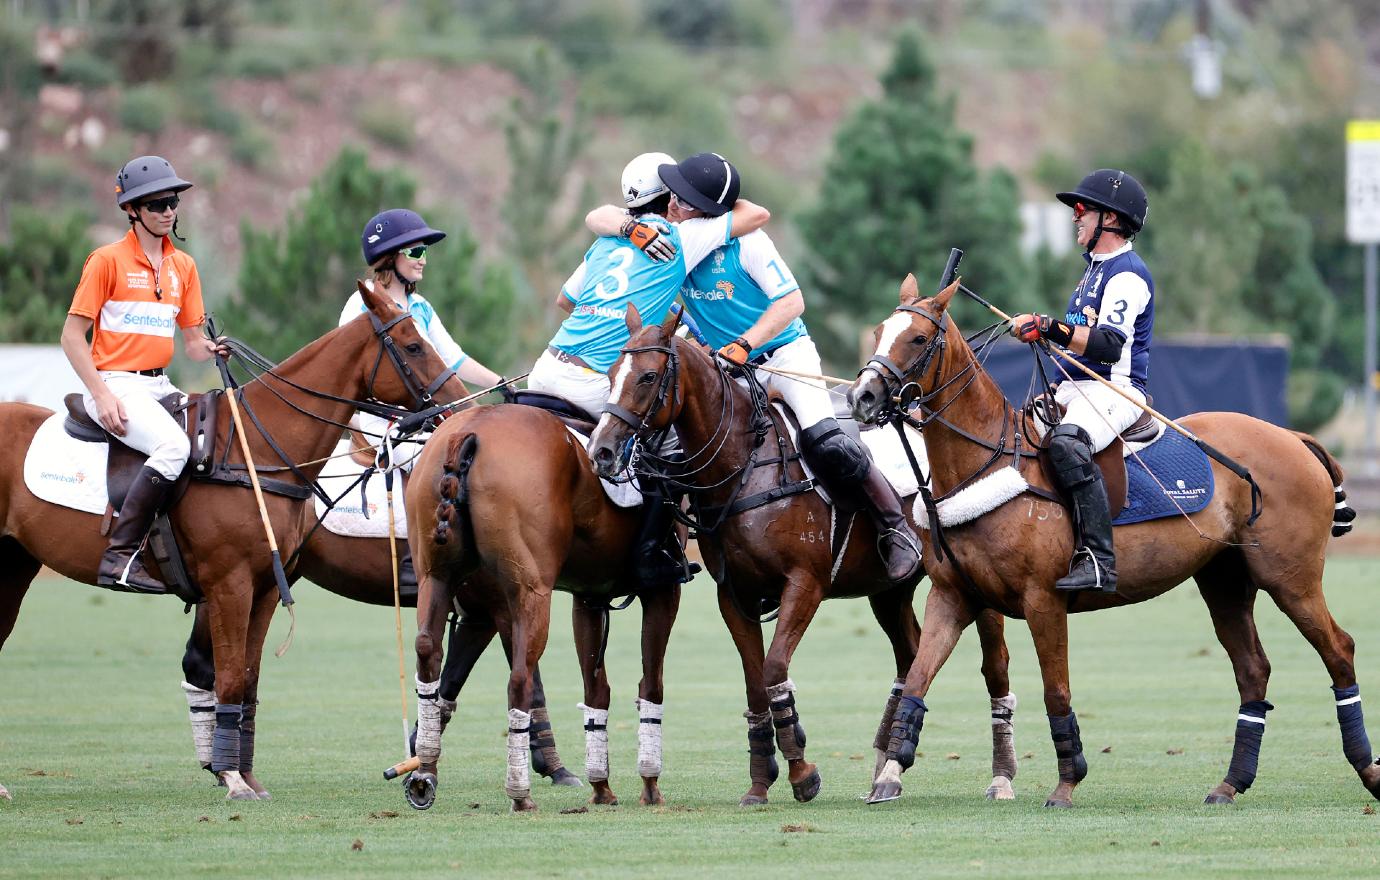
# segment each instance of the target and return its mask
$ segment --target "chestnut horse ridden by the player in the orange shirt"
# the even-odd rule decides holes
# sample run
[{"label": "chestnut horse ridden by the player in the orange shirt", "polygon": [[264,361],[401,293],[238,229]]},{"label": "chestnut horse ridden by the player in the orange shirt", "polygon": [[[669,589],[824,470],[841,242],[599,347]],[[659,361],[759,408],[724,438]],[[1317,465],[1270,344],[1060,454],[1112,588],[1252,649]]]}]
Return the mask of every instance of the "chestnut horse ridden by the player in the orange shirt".
[{"label": "chestnut horse ridden by the player in the orange shirt", "polygon": [[[411,316],[360,284],[368,312],[297,352],[243,388],[246,425],[253,412],[261,430],[247,428],[255,462],[282,457],[306,462],[328,455],[351,414],[373,399],[420,408],[435,393],[458,400],[465,389],[426,343]],[[386,363],[386,366],[385,366]],[[217,450],[230,461],[243,457],[230,440],[228,401],[218,403]],[[0,646],[8,637],[19,604],[41,566],[95,583],[105,549],[101,517],[37,499],[25,486],[23,459],[39,426],[52,412],[29,404],[0,404]],[[269,439],[276,443],[270,446]],[[315,480],[320,463],[304,465]],[[304,502],[265,495],[277,545],[291,554],[305,535]],[[192,481],[171,510],[188,571],[206,593],[211,641],[215,646],[217,730],[214,770],[229,797],[258,797],[240,775],[239,756],[253,728],[243,731],[244,706],[257,702],[264,639],[277,601],[264,524],[247,488]],[[248,746],[253,752],[253,745]]]}]

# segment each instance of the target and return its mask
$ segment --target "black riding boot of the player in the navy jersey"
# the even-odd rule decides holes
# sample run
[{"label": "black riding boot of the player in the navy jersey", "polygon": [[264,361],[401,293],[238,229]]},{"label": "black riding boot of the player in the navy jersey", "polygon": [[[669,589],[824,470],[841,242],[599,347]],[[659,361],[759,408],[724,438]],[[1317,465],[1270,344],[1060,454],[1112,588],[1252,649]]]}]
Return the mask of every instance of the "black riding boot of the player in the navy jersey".
[{"label": "black riding boot of the player in the navy jersey", "polygon": [[1116,554],[1112,517],[1103,472],[1093,463],[1092,437],[1076,425],[1057,425],[1050,433],[1050,461],[1060,487],[1074,502],[1078,549],[1068,574],[1054,582],[1061,590],[1116,592]]}]

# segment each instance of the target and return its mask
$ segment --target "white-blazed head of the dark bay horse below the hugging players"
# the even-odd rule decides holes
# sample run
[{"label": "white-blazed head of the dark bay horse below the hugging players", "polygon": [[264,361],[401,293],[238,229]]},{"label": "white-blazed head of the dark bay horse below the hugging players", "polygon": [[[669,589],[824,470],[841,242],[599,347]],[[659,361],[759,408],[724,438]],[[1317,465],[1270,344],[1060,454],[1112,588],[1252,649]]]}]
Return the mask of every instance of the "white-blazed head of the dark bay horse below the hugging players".
[{"label": "white-blazed head of the dark bay horse below the hugging players", "polygon": [[684,400],[675,335],[680,317],[671,314],[661,324],[643,326],[638,308],[629,305],[624,320],[628,345],[610,370],[609,403],[589,436],[589,461],[602,477],[624,470],[633,441],[668,429]]}]

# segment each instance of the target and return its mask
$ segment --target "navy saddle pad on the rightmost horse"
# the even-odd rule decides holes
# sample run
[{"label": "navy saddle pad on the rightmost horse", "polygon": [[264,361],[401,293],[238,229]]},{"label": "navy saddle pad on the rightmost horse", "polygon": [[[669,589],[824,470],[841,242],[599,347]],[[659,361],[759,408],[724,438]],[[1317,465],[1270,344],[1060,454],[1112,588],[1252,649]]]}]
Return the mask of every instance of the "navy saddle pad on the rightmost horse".
[{"label": "navy saddle pad on the rightmost horse", "polygon": [[[1147,465],[1150,472],[1145,470]],[[1126,457],[1126,508],[1112,524],[1127,526],[1179,513],[1196,513],[1212,501],[1212,463],[1208,454],[1170,428],[1138,452],[1138,461],[1136,455]]]}]

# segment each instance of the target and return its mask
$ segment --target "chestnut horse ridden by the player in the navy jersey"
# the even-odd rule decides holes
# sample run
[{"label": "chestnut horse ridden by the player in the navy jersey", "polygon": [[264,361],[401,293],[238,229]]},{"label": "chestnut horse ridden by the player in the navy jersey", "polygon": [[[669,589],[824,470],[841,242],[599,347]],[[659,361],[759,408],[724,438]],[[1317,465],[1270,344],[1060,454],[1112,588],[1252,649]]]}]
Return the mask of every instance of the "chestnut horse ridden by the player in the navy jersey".
[{"label": "chestnut horse ridden by the player in the navy jersey", "polygon": [[[925,694],[963,629],[976,615],[996,610],[1029,623],[1058,759],[1058,785],[1046,806],[1072,806],[1087,761],[1068,687],[1068,614],[1144,601],[1188,578],[1198,582],[1231,658],[1242,702],[1230,770],[1208,803],[1232,803],[1254,781],[1265,712],[1272,709],[1265,701],[1270,662],[1253,617],[1257,590],[1270,594],[1322,657],[1337,699],[1343,752],[1366,789],[1380,797],[1380,766],[1372,764],[1352,666],[1355,646],[1332,619],[1322,594],[1334,508],[1339,521],[1351,516],[1341,501],[1336,461],[1312,437],[1249,415],[1185,417],[1180,422],[1185,429],[1245,465],[1259,483],[1259,517],[1252,484],[1213,461],[1216,491],[1203,510],[1115,528],[1116,594],[1056,592],[1054,581],[1074,550],[1070,514],[1058,502],[1046,501],[1057,495],[1034,458],[1013,458],[1021,437],[1038,434],[1007,404],[949,316],[956,290],[955,281],[922,299],[914,276],[907,277],[900,308],[878,328],[876,354],[850,388],[854,414],[876,418],[898,385],[914,383],[903,399],[916,394],[937,498],[988,473],[1016,479],[1010,468],[1027,483],[1018,501],[1002,502],[1020,491],[1016,479],[1012,492],[983,505],[987,513],[945,527],[952,554],[929,568],[934,586],[925,608],[925,634],[869,803],[900,796],[901,772],[914,760],[925,720]],[[1028,448],[1029,440],[1024,444]]]}]

